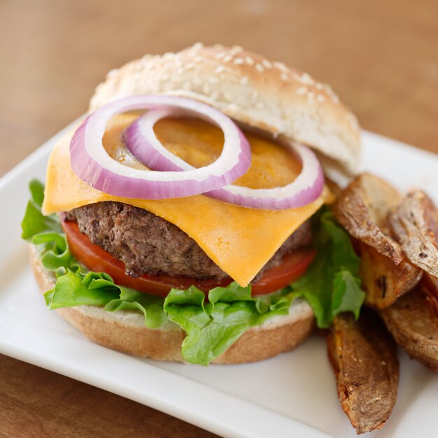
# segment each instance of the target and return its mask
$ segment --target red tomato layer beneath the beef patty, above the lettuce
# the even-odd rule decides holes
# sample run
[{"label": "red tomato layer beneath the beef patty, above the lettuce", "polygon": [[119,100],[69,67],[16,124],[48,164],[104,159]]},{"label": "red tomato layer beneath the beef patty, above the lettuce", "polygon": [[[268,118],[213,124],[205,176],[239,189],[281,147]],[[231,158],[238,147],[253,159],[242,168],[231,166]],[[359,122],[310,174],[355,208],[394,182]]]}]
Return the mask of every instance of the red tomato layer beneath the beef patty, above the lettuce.
[{"label": "red tomato layer beneath the beef patty, above the lettuce", "polygon": [[[106,250],[94,245],[90,238],[80,232],[78,224],[62,220],[62,229],[69,242],[73,256],[87,269],[95,272],[106,272],[114,282],[140,292],[147,292],[160,297],[166,297],[171,288],[188,289],[195,285],[198,289],[209,292],[218,286],[226,286],[232,282],[231,278],[223,280],[195,280],[188,276],[153,276],[143,275],[137,278],[125,274],[125,265],[113,257]],[[259,281],[252,283],[252,295],[264,295],[284,288],[299,276],[304,274],[315,257],[315,250],[304,248],[295,253],[286,255],[283,263],[268,269]]]}]

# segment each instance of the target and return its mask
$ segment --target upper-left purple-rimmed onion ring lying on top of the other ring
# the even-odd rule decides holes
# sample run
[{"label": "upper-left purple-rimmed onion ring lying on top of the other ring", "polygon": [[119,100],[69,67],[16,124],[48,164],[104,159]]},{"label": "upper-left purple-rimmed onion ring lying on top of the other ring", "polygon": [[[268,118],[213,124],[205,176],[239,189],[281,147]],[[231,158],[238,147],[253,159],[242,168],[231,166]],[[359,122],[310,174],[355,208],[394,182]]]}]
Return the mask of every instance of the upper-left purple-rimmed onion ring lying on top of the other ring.
[{"label": "upper-left purple-rimmed onion ring lying on top of the other ring", "polygon": [[[127,167],[108,155],[102,144],[106,124],[114,115],[141,109],[167,108],[184,111],[220,127],[224,146],[218,159],[208,166],[183,171],[142,170]],[[132,134],[130,146],[143,145]],[[250,146],[237,125],[225,114],[192,99],[172,96],[136,95],[113,101],[89,115],[70,143],[71,167],[86,183],[108,195],[137,199],[169,199],[199,195],[235,181],[250,167]],[[148,165],[148,164],[146,164]]]}]

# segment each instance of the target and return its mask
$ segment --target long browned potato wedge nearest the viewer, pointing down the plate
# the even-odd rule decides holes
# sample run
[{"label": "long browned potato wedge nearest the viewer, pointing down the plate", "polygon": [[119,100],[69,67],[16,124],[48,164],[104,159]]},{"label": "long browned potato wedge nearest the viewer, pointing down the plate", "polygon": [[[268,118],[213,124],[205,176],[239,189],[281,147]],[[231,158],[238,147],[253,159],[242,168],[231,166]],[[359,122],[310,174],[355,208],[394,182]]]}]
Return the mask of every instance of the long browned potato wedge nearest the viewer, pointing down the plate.
[{"label": "long browned potato wedge nearest the viewer, pointing down the plate", "polygon": [[334,319],[327,334],[330,362],[341,407],[358,434],[381,428],[388,420],[399,381],[395,343],[379,317],[362,309]]}]

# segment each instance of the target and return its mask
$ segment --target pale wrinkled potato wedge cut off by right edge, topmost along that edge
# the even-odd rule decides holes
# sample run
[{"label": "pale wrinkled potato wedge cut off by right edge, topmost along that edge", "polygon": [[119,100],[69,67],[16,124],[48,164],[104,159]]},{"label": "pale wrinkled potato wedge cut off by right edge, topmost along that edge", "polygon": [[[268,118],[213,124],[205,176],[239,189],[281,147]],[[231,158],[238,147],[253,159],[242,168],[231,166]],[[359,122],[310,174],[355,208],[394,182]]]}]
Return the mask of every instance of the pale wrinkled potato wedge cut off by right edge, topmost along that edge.
[{"label": "pale wrinkled potato wedge cut off by right edge, topmost along that edge", "polygon": [[409,193],[389,222],[409,260],[438,277],[438,210],[430,197],[421,190]]}]

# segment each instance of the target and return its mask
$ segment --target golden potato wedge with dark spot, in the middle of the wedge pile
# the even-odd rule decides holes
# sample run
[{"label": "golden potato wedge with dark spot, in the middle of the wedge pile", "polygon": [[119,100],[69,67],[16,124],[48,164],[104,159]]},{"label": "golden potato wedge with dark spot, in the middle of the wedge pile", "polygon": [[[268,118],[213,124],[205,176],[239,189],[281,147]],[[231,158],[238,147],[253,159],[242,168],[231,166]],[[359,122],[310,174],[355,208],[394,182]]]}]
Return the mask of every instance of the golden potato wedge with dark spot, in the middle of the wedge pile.
[{"label": "golden potato wedge with dark spot, in the middle of the wedge pile", "polygon": [[406,257],[394,264],[385,255],[379,254],[366,243],[358,243],[360,252],[360,278],[365,291],[365,304],[374,309],[385,309],[409,290],[413,289],[423,276],[423,271]]}]

